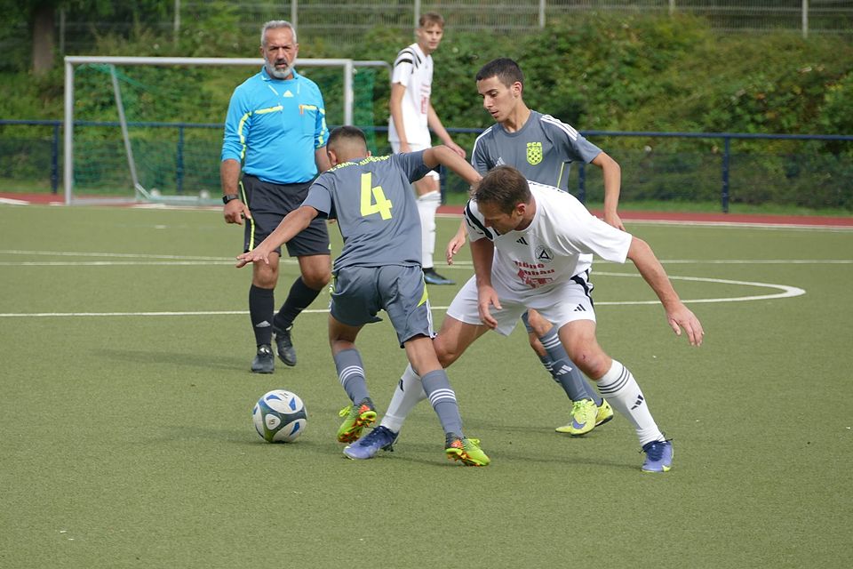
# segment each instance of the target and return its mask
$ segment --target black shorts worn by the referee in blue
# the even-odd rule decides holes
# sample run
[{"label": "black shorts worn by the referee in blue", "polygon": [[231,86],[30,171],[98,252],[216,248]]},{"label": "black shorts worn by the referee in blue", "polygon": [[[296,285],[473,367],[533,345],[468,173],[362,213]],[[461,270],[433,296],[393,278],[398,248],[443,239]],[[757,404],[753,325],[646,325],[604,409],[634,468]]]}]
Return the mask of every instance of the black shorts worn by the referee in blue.
[{"label": "black shorts worn by the referee in blue", "polygon": [[[299,184],[274,184],[244,174],[243,180],[240,180],[240,193],[243,204],[249,206],[251,220],[246,220],[243,251],[251,251],[275,231],[285,215],[302,205],[310,187],[309,181]],[[326,221],[320,218],[313,220],[311,225],[293,237],[286,246],[291,257],[331,254]],[[282,248],[276,248],[275,252],[281,255]]]}]

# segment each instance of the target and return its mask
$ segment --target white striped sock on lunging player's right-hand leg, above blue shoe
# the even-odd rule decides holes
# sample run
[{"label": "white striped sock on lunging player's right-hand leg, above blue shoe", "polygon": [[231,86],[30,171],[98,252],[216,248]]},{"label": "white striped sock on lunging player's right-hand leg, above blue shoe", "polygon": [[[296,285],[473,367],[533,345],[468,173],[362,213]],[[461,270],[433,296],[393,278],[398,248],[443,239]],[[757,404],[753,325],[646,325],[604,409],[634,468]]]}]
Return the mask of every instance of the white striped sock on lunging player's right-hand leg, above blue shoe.
[{"label": "white striped sock on lunging player's right-hand leg, above blue shoe", "polygon": [[649,405],[642,395],[640,386],[625,365],[613,360],[610,371],[595,382],[595,388],[614,409],[634,425],[641,446],[652,441],[664,440],[663,433],[651,417]]}]

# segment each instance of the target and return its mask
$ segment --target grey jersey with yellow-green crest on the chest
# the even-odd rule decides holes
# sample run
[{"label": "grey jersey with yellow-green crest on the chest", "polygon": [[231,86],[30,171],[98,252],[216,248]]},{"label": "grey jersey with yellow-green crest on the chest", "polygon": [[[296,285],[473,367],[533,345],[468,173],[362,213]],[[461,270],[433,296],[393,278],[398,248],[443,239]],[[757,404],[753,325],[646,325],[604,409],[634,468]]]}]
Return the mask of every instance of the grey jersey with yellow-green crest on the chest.
[{"label": "grey jersey with yellow-green crest on the chest", "polygon": [[506,132],[500,124],[483,132],[474,142],[471,165],[485,173],[506,164],[528,180],[568,190],[570,164],[588,164],[601,152],[569,124],[532,110],[517,132]]}]

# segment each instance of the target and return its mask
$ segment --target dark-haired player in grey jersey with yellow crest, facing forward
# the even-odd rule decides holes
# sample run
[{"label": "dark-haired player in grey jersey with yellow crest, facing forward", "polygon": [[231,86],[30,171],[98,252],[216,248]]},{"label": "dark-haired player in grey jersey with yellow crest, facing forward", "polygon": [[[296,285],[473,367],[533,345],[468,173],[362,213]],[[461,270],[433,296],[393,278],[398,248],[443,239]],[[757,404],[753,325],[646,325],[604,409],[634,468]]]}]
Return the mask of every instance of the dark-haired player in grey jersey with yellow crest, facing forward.
[{"label": "dark-haired player in grey jersey with yellow crest, facing forward", "polygon": [[[522,99],[524,76],[514,60],[490,61],[477,73],[476,80],[483,107],[498,124],[483,132],[474,143],[471,157],[474,168],[484,174],[506,164],[529,180],[566,189],[572,162],[595,164],[602,168],[604,178],[604,220],[624,230],[616,212],[621,184],[619,164],[569,124],[530,110]],[[463,224],[448,244],[448,263],[452,263],[453,255],[465,241]],[[568,423],[556,430],[577,437],[610,421],[613,410],[571,362],[554,325],[536,310],[526,312],[522,321],[527,327],[530,347],[572,402]],[[399,433],[406,416],[423,398],[419,389],[410,389],[410,384],[416,383],[415,375],[403,373],[382,419],[383,426]]]}]

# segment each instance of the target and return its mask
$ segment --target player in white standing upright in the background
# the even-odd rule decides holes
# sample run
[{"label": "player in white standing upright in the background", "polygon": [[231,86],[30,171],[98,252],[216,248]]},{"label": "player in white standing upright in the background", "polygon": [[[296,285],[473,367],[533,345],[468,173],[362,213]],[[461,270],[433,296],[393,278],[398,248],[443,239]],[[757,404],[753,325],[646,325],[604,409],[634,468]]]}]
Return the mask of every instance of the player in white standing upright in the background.
[{"label": "player in white standing upright in the background", "polygon": [[[397,53],[391,72],[391,116],[388,141],[395,154],[414,152],[432,146],[429,129],[445,146],[465,157],[465,150],[450,138],[441,119],[435,114],[430,94],[433,84],[432,52],[438,48],[444,34],[444,19],[440,14],[427,12],[420,17],[415,30],[418,41]],[[421,225],[422,265],[428,284],[454,284],[435,272],[435,212],[442,203],[438,172],[430,172],[414,183],[418,195]]]}]

